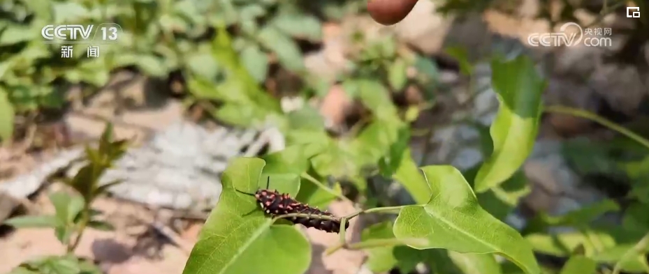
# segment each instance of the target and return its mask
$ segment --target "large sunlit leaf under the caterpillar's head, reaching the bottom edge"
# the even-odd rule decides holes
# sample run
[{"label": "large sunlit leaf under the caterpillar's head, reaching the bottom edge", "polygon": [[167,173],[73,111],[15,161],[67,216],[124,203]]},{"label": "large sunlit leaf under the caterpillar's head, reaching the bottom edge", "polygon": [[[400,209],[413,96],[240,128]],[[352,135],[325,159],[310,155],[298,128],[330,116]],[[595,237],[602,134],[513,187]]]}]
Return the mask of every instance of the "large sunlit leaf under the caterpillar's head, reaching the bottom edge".
[{"label": "large sunlit leaf under the caterpillar's head, reaching the bottom edge", "polygon": [[[265,162],[236,158],[222,176],[223,192],[212,209],[184,274],[302,274],[311,261],[311,245],[296,227],[272,224],[254,197]],[[296,182],[273,181],[272,188],[296,195]],[[263,181],[265,185],[265,181]],[[286,191],[288,190],[288,191]]]}]

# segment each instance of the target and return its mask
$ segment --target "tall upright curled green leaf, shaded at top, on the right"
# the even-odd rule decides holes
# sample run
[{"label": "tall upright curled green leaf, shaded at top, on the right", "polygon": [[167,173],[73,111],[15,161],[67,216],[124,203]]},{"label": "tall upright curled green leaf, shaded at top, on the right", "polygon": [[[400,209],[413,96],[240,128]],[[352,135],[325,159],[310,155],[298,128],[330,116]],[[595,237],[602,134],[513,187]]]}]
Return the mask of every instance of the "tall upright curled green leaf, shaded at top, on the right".
[{"label": "tall upright curled green leaf, shaded at top, on the right", "polygon": [[539,128],[541,94],[546,87],[532,60],[523,55],[513,61],[494,59],[491,68],[500,107],[490,128],[493,153],[476,175],[476,192],[503,183],[530,155]]}]

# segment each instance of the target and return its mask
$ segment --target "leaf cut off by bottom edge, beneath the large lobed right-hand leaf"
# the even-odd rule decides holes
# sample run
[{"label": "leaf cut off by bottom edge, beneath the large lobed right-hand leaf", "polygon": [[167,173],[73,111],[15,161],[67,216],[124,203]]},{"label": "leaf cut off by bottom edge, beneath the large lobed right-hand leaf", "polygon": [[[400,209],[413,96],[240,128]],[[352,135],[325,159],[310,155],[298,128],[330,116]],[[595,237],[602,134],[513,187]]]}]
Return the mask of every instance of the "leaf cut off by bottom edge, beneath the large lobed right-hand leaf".
[{"label": "leaf cut off by bottom edge, beneath the large lobed right-hand leaf", "polygon": [[464,274],[501,274],[500,264],[492,254],[458,253],[449,250],[449,257]]}]

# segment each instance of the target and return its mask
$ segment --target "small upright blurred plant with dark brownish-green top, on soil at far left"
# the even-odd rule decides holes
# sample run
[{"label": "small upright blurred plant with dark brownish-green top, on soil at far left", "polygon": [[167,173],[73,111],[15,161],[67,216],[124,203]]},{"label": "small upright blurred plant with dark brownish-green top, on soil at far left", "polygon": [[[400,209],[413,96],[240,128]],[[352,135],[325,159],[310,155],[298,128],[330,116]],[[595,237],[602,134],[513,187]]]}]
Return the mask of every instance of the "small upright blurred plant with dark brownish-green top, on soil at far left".
[{"label": "small upright blurred plant with dark brownish-green top, on soil at far left", "polygon": [[87,228],[112,230],[110,223],[101,220],[101,211],[92,208],[93,201],[105,194],[110,186],[119,181],[100,185],[99,178],[112,162],[126,151],[126,141],[112,141],[112,125],[108,124],[99,140],[97,149],[86,146],[87,163],[73,178],[64,178],[64,183],[75,192],[59,191],[50,194],[54,215],[27,215],[10,218],[4,224],[16,228],[43,227],[54,229],[54,235],[66,246],[66,254],[27,261],[15,268],[11,274],[57,273],[90,274],[101,273],[92,261],[75,257],[74,250]]}]

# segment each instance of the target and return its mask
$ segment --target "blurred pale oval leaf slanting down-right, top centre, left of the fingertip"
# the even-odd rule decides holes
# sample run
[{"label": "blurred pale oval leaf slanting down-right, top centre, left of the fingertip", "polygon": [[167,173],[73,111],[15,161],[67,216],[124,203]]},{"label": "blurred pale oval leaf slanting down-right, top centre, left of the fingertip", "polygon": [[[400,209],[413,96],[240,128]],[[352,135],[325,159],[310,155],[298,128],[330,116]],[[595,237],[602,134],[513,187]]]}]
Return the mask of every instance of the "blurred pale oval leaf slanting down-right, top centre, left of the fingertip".
[{"label": "blurred pale oval leaf slanting down-right, top centre, left of the fingertip", "polygon": [[284,68],[299,72],[305,68],[302,52],[296,41],[279,31],[274,26],[265,26],[258,33],[258,40],[277,55],[277,60]]}]

